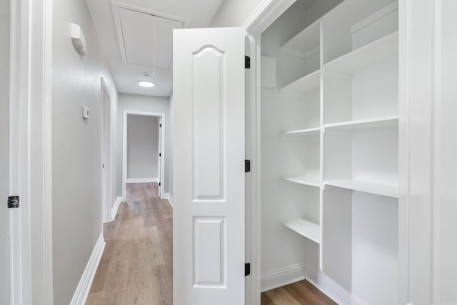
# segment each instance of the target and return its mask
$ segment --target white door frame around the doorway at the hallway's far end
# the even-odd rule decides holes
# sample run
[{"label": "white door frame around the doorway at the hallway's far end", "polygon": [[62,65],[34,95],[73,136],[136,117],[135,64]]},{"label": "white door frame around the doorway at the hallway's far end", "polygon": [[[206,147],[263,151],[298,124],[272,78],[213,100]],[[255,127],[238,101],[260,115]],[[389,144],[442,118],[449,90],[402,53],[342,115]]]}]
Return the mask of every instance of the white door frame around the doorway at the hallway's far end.
[{"label": "white door frame around the doorway at the hallway's far end", "polygon": [[124,110],[124,116],[122,120],[122,199],[126,200],[126,183],[127,183],[127,115],[137,115],[137,116],[156,116],[161,120],[162,127],[160,128],[160,141],[159,143],[159,154],[161,154],[161,171],[159,180],[161,185],[159,186],[160,195],[164,196],[165,189],[165,179],[164,179],[164,164],[165,164],[165,114],[162,112],[149,112],[149,111],[139,111],[139,110]]}]

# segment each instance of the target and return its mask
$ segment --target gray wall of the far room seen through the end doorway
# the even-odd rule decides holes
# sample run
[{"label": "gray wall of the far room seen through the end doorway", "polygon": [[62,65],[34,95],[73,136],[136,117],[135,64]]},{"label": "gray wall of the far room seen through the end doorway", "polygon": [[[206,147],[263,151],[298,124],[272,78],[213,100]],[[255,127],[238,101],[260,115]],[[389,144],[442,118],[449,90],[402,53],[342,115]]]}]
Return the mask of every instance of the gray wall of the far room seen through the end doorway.
[{"label": "gray wall of the far room seen through the end doorway", "polygon": [[159,118],[127,116],[127,179],[158,179]]}]

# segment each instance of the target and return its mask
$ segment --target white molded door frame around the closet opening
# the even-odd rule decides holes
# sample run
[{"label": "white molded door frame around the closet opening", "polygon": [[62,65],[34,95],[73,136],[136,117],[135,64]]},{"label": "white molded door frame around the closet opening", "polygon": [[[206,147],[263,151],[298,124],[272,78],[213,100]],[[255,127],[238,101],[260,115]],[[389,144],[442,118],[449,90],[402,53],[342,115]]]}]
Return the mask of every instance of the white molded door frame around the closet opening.
[{"label": "white molded door frame around the closet opening", "polygon": [[[250,152],[246,152],[246,158],[248,156],[252,156],[253,158],[253,160],[251,160],[251,168],[253,169],[250,179],[251,189],[246,188],[246,196],[251,196],[251,224],[249,226],[249,229],[251,229],[251,234],[246,236],[246,239],[251,239],[251,260],[255,262],[255,264],[251,266],[252,277],[250,288],[249,291],[246,291],[246,295],[251,294],[251,296],[250,299],[246,299],[246,304],[252,305],[260,304],[261,295],[261,34],[268,28],[268,26],[273,24],[273,22],[276,21],[276,19],[278,19],[278,17],[281,16],[281,14],[283,14],[283,12],[286,11],[286,9],[288,9],[288,7],[290,7],[295,1],[296,0],[263,0],[261,1],[261,4],[258,5],[256,10],[253,11],[248,19],[246,19],[246,21],[244,21],[242,24],[242,26],[248,32],[248,52],[250,52],[249,55],[251,56],[251,69],[253,69],[251,76],[246,78],[246,90],[249,90],[249,92],[246,92],[246,102],[249,101],[251,103],[251,116],[246,116],[246,119],[251,120],[249,123],[251,128],[250,135],[252,147]],[[401,166],[399,169],[399,175],[401,179],[406,179],[406,181],[409,181],[411,177],[411,131],[413,129],[420,130],[423,127],[419,126],[420,124],[418,124],[418,126],[413,126],[411,124],[411,113],[413,112],[411,111],[411,95],[413,92],[418,90],[415,90],[413,87],[411,87],[411,79],[413,78],[413,75],[411,75],[411,70],[409,69],[411,66],[410,56],[411,50],[413,49],[415,51],[417,50],[418,52],[421,51],[420,48],[414,48],[411,44],[411,21],[416,20],[416,22],[422,22],[423,19],[429,18],[433,19],[433,21],[426,26],[433,26],[433,22],[436,24],[438,23],[436,14],[430,14],[427,9],[416,9],[413,11],[413,2],[414,1],[412,0],[401,1],[399,15],[401,20],[400,27],[403,30],[401,31],[400,36],[403,37],[403,39],[400,39],[400,56],[404,61],[403,66],[400,66],[400,81],[403,82],[403,89],[408,88],[407,91],[405,89],[401,90],[400,92],[400,99],[404,99],[407,102],[401,104],[400,107],[400,130],[401,134],[403,134],[403,141],[400,141],[401,145],[399,159],[401,159],[403,162],[403,166]],[[436,9],[440,2],[441,0],[423,0],[420,1],[420,3],[416,4],[416,6],[422,6],[422,8],[430,8],[431,6],[434,6]],[[433,36],[433,39],[438,39],[437,37],[439,36],[439,33],[435,32],[434,34],[435,36]],[[428,42],[429,41],[426,41],[424,44],[427,44]],[[425,47],[423,49],[428,48]],[[419,63],[416,62],[416,64]],[[417,78],[420,79],[423,75],[427,74],[421,74],[417,76]],[[420,111],[420,109],[418,111]],[[420,115],[423,115],[423,113]],[[425,127],[430,128],[430,126]],[[430,168],[429,159],[423,158],[421,161],[423,161],[423,167],[428,166],[428,168]],[[246,180],[248,178],[249,177],[246,177]],[[248,191],[250,191],[251,194],[248,195]],[[426,264],[423,264],[424,262],[422,260],[421,266],[419,266],[420,264],[411,265],[412,258],[415,258],[417,255],[421,256],[421,253],[424,253],[427,251],[427,249],[430,249],[428,246],[430,246],[431,241],[423,241],[423,239],[419,238],[419,236],[423,236],[427,232],[429,232],[429,234],[433,234],[433,231],[430,231],[430,223],[432,222],[431,217],[433,217],[430,216],[430,205],[425,207],[416,207],[413,209],[413,206],[410,204],[411,195],[411,186],[409,184],[403,184],[400,196],[400,200],[403,202],[403,204],[399,204],[400,208],[398,214],[398,275],[400,284],[400,304],[406,304],[406,302],[414,299],[414,296],[420,294],[420,289],[411,291],[411,287],[413,286],[411,282],[418,282],[418,280],[415,279],[414,272],[423,272],[423,274],[427,274],[428,271],[431,271],[430,266],[432,264],[431,261],[426,261]],[[420,196],[426,197],[426,195],[427,194],[422,192]],[[246,204],[248,204],[248,201],[246,201]],[[424,228],[423,222],[418,221],[418,227],[414,228],[411,225],[411,219],[419,219],[421,216],[423,216],[423,219],[426,219],[428,226]],[[246,226],[246,229],[247,228],[248,226]],[[414,236],[418,237],[414,239]],[[412,244],[413,240],[420,242]],[[420,249],[420,251],[412,252],[411,248],[414,246],[416,249]],[[416,269],[416,271],[413,269]],[[248,281],[248,278],[246,278],[246,281]],[[246,285],[246,288],[249,287],[248,285],[249,284]],[[433,291],[431,281],[427,283],[427,286],[430,287],[428,291]]]}]

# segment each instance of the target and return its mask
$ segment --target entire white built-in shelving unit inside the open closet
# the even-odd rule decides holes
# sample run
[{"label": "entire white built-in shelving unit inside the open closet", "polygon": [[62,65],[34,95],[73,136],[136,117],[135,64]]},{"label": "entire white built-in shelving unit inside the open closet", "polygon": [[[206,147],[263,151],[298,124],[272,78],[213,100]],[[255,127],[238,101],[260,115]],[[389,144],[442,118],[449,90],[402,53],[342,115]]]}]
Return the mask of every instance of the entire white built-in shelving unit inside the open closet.
[{"label": "entire white built-in shelving unit inside the open closet", "polygon": [[280,89],[284,107],[314,105],[302,108],[301,128],[281,133],[283,145],[314,143],[298,152],[314,156],[313,170],[281,179],[318,189],[321,211],[283,226],[319,244],[323,274],[358,300],[396,304],[398,3],[345,0],[281,50],[310,60]]}]

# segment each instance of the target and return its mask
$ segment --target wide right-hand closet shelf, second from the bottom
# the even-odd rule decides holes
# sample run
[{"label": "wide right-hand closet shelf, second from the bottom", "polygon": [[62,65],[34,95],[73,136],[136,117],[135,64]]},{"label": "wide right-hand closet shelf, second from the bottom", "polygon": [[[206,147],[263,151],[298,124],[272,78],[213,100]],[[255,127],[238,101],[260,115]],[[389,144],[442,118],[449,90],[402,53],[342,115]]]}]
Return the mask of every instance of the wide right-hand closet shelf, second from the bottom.
[{"label": "wide right-hand closet shelf, second from the bottom", "polygon": [[324,124],[323,131],[328,133],[338,133],[395,126],[398,126],[398,116],[379,116],[371,119]]}]

